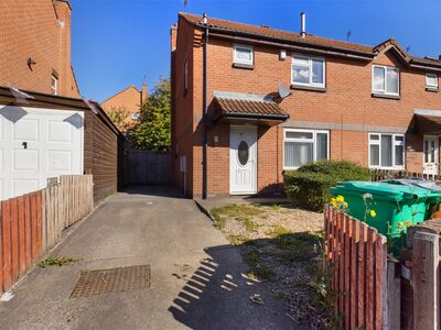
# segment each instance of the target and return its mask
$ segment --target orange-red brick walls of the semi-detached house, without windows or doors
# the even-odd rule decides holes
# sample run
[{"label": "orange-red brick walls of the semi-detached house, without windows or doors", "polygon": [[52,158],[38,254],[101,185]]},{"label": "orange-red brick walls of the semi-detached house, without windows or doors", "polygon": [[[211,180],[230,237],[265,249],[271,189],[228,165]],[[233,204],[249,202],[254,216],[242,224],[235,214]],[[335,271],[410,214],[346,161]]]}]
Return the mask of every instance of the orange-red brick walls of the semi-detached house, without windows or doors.
[{"label": "orange-red brick walls of the semi-detached house, without windows or doors", "polygon": [[[202,21],[202,19],[201,19]],[[209,23],[209,19],[208,19]],[[203,143],[203,28],[180,15],[176,50],[172,55],[174,178],[184,186],[181,157],[186,157],[186,187],[190,195],[202,194]],[[233,47],[237,33],[212,34],[207,52],[208,105],[213,91],[268,95],[279,84],[291,85],[292,54],[309,55],[308,50],[289,51],[279,58],[282,46],[266,45],[258,36],[248,37],[254,47],[254,68],[233,67]],[[172,42],[173,44],[173,42]],[[373,48],[375,50],[375,48]],[[372,59],[341,55],[315,55],[325,59],[325,90],[291,89],[280,107],[290,119],[275,127],[258,127],[258,191],[280,186],[283,173],[283,129],[320,129],[329,131],[330,157],[351,160],[368,166],[368,133],[406,134],[406,168],[422,172],[422,132],[415,132],[415,109],[441,109],[441,92],[426,90],[426,74],[437,73],[433,66],[411,67],[394,47],[377,51]],[[373,51],[374,53],[374,51]],[[310,54],[314,55],[314,54]],[[189,62],[189,89],[184,91],[184,66]],[[435,62],[434,62],[435,63]],[[399,68],[399,99],[373,96],[373,65]],[[213,136],[219,143],[213,144]],[[229,194],[229,125],[216,123],[208,130],[208,194]]]}]

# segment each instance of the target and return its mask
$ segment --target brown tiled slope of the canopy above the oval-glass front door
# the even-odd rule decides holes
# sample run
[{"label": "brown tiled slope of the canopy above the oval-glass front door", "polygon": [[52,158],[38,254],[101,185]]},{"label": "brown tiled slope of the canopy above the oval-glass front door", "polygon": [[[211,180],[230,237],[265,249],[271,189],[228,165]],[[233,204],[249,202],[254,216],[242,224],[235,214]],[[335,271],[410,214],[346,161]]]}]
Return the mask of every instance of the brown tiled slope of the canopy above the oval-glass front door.
[{"label": "brown tiled slope of the canopy above the oval-glass front door", "polygon": [[218,111],[217,118],[234,117],[282,121],[289,118],[289,114],[275,101],[215,96],[213,102]]}]

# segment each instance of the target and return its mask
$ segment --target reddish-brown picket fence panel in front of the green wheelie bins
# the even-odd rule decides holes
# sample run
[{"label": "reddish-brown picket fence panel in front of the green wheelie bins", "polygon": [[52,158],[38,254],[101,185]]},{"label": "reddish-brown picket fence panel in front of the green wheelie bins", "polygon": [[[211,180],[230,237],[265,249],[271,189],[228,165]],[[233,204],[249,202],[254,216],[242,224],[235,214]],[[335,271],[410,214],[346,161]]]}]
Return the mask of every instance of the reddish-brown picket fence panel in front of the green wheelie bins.
[{"label": "reddish-brown picket fence panel in front of the green wheelie bins", "polygon": [[376,229],[332,207],[325,209],[325,267],[343,329],[387,323],[387,242]]}]

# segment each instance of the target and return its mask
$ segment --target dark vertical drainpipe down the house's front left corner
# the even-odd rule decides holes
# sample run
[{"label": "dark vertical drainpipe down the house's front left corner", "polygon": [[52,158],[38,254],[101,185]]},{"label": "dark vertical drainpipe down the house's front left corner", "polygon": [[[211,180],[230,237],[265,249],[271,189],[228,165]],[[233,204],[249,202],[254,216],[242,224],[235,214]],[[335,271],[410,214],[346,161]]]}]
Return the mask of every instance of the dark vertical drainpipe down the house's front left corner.
[{"label": "dark vertical drainpipe down the house's front left corner", "polygon": [[207,102],[207,62],[208,62],[208,36],[209,36],[209,31],[208,31],[208,24],[207,24],[207,16],[204,13],[203,15],[203,22],[206,24],[205,28],[205,44],[204,44],[204,63],[203,63],[203,121],[204,121],[204,144],[202,148],[202,199],[207,199],[208,196],[208,189],[207,189],[207,148],[208,148],[208,129],[207,129],[207,111],[208,111],[208,102]]}]

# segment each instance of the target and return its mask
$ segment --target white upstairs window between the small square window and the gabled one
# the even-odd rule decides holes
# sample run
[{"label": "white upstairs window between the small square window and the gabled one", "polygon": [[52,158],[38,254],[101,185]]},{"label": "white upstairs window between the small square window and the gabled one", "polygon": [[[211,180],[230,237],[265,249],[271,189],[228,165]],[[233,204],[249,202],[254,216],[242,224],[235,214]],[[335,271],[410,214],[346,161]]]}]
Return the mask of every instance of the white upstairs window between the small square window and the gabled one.
[{"label": "white upstairs window between the small square window and the gabled one", "polygon": [[324,87],[325,61],[319,57],[292,56],[292,85]]}]

